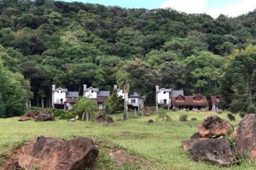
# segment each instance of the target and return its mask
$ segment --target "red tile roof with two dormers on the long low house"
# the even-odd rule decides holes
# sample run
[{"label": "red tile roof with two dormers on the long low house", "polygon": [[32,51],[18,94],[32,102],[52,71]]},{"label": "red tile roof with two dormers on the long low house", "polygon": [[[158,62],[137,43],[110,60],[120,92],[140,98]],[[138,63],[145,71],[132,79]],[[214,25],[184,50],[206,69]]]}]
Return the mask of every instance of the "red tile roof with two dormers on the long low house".
[{"label": "red tile roof with two dormers on the long low house", "polygon": [[199,94],[195,96],[182,96],[172,98],[173,106],[209,106],[206,96]]}]

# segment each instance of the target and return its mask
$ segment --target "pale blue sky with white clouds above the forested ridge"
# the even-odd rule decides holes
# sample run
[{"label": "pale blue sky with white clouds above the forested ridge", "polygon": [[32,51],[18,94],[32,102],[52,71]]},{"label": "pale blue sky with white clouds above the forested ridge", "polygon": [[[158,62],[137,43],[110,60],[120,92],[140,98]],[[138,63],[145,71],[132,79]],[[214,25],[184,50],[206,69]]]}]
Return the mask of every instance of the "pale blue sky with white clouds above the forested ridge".
[{"label": "pale blue sky with white clouds above the forested ridge", "polygon": [[231,17],[246,14],[256,9],[256,0],[64,0],[97,3],[123,8],[173,8],[185,13],[207,13],[213,18],[219,14]]}]

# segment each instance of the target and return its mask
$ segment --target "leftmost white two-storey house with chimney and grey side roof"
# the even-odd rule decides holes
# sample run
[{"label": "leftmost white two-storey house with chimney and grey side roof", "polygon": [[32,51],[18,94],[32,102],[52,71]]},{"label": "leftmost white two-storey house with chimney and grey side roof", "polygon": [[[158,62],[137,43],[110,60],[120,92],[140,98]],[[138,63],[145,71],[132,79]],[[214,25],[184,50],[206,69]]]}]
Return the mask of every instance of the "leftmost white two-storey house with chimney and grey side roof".
[{"label": "leftmost white two-storey house with chimney and grey side roof", "polygon": [[68,91],[65,88],[55,88],[55,85],[52,85],[52,106],[54,108],[71,110],[78,97],[78,91]]}]

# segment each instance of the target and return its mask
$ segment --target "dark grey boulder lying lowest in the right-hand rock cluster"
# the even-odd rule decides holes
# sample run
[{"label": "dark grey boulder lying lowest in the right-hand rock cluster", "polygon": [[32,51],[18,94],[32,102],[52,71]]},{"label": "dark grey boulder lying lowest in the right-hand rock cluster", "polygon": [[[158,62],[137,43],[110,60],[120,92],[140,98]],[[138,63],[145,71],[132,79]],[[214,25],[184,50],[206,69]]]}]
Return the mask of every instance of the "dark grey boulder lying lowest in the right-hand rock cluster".
[{"label": "dark grey boulder lying lowest in the right-hand rock cluster", "polygon": [[234,150],[227,139],[206,139],[195,142],[190,149],[194,161],[212,162],[221,166],[238,163]]}]

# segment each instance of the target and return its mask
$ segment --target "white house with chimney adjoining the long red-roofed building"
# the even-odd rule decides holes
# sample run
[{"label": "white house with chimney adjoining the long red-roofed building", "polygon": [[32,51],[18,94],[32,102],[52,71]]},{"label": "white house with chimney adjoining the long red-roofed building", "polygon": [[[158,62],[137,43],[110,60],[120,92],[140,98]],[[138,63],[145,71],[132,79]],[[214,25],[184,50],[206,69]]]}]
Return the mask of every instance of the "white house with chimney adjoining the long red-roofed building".
[{"label": "white house with chimney adjoining the long red-roofed building", "polygon": [[183,90],[175,91],[173,89],[159,88],[156,86],[156,108],[159,106],[167,106],[170,108],[172,106],[172,97],[177,97],[179,95],[184,95]]}]

